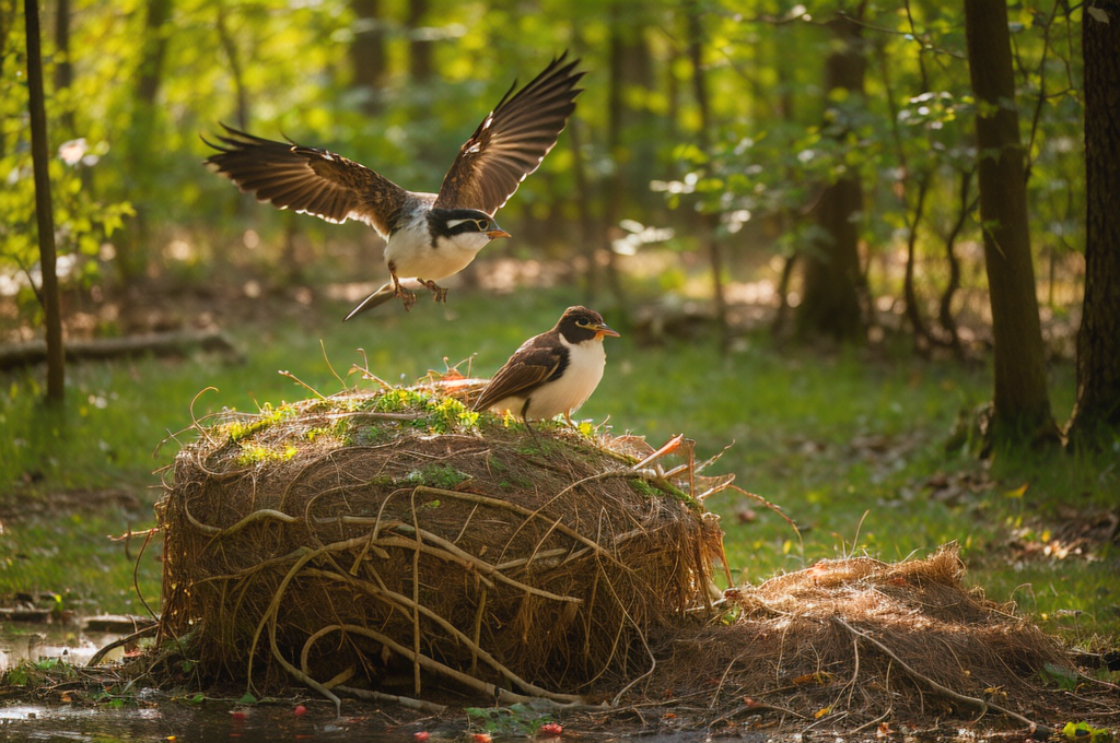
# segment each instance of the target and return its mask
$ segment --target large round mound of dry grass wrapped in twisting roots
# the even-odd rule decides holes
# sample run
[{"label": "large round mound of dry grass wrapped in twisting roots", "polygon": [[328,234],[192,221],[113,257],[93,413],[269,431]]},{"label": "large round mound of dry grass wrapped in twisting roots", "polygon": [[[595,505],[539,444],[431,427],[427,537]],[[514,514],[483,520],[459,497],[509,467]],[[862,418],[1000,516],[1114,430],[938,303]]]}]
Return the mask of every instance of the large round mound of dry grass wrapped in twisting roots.
[{"label": "large round mound of dry grass wrapped in twisting roots", "polygon": [[629,436],[479,420],[447,394],[473,388],[199,426],[157,506],[161,637],[205,675],[282,668],[332,698],[401,670],[504,699],[641,676],[651,630],[710,606],[721,532],[694,496],[727,480]]}]

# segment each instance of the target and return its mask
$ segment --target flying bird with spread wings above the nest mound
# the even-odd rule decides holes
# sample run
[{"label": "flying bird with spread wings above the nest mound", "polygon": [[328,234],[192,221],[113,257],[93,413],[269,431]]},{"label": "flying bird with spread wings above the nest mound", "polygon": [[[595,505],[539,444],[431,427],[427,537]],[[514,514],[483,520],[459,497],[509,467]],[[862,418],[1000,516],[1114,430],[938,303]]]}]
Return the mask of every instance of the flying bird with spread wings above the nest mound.
[{"label": "flying bird with spread wings above the nest mound", "polygon": [[447,301],[436,282],[461,271],[492,239],[508,237],[497,211],[557,143],[581,92],[579,60],[566,51],[528,85],[513,86],[459,149],[439,194],[408,191],[363,164],[295,142],[273,142],[222,124],[226,133],[206,163],[259,201],[312,214],[327,222],[361,219],[385,239],[392,281],[355,307],[346,320],[394,297],[404,309],[416,294],[401,286],[414,278]]}]

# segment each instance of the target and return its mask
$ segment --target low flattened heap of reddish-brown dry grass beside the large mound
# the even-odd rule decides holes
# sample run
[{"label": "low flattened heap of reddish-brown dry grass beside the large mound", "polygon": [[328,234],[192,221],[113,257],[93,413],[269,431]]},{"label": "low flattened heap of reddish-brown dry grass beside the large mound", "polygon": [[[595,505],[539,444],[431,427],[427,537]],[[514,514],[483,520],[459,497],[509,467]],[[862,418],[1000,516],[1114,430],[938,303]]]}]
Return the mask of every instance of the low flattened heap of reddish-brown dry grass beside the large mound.
[{"label": "low flattened heap of reddish-brown dry grass beside the large mound", "polygon": [[1047,714],[1045,678],[1077,673],[1054,638],[967,589],[963,573],[955,545],[946,545],[902,563],[822,561],[728,591],[741,614],[672,638],[660,678],[710,697],[719,722],[777,713],[844,721],[850,732],[992,709],[1030,724]]}]

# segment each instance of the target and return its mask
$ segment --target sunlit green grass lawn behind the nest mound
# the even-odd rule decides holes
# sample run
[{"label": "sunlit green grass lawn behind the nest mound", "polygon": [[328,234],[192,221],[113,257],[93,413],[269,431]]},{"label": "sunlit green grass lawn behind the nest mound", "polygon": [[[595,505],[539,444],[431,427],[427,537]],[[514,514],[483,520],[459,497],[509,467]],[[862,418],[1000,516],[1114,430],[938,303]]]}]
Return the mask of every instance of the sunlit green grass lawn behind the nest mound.
[{"label": "sunlit green grass lawn behind the nest mound", "polygon": [[[473,372],[488,376],[569,303],[559,291],[501,298],[460,291],[445,307],[426,300],[408,316],[390,307],[346,325],[338,321],[342,304],[308,317],[278,311],[269,322],[230,328],[244,364],[199,355],[72,366],[63,415],[37,403],[41,370],[0,376],[0,595],[68,590],[91,608],[140,610],[130,559],[139,540],[125,554],[123,543],[104,535],[153,523],[160,478],[152,471],[172,461],[177,441],[190,440],[192,401],[204,388],[216,391],[195,401],[197,417],[310,395],[281,369],[324,394],[337,392],[343,384],[324,348],[344,377],[365,358],[381,378],[411,382],[444,369],[445,358],[454,365],[472,357]],[[900,559],[956,540],[970,580],[993,598],[1014,599],[1075,640],[1096,633],[1116,642],[1120,634],[1113,585],[1120,551],[1100,542],[1082,545],[1080,555],[1042,548],[1061,543],[1054,525],[1071,523],[1071,507],[1116,507],[1118,454],[999,452],[981,464],[968,451],[946,452],[960,412],[990,396],[990,370],[924,361],[908,347],[778,349],[764,335],[722,356],[715,338],[641,346],[624,332],[607,340],[607,354],[604,380],[580,417],[609,416],[615,433],[644,434],[654,445],[684,433],[702,458],[734,442],[712,472],[735,472],[737,485],[780,505],[801,527],[799,538],[735,491],[712,497],[708,506],[724,516],[728,556],[746,580],[852,551]],[[1072,367],[1052,370],[1052,394],[1064,420]],[[74,493],[106,489],[139,493],[142,506],[73,507]],[[49,507],[62,492],[71,493],[71,507]],[[140,582],[155,598],[159,563],[149,556]]]}]

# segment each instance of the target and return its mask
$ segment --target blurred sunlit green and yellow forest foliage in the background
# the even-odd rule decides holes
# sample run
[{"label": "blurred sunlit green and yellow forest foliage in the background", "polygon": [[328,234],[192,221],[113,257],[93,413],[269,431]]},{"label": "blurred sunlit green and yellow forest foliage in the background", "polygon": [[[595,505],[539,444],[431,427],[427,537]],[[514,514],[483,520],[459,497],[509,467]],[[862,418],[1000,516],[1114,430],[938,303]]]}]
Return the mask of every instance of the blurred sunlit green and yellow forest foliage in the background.
[{"label": "blurred sunlit green and yellow forest foliage in the background", "polygon": [[[1063,312],[1080,298],[1085,238],[1082,8],[1008,8],[1038,294]],[[0,0],[4,275],[35,271],[21,23]],[[955,3],[52,0],[45,27],[72,281],[142,280],[184,235],[205,263],[249,226],[278,245],[293,229],[315,245],[339,229],[246,208],[208,176],[199,134],[220,121],[436,190],[511,82],[571,49],[586,92],[503,209],[520,238],[506,250],[577,261],[617,299],[618,262],[668,247],[682,266],[717,267],[720,321],[726,282],[762,266],[778,322],[804,308],[800,329],[860,338],[894,312],[923,352],[961,354],[962,313],[989,317],[974,125],[986,112]],[[376,247],[367,229],[348,235]],[[682,291],[684,270],[659,282]],[[27,292],[21,305],[36,311]]]}]

